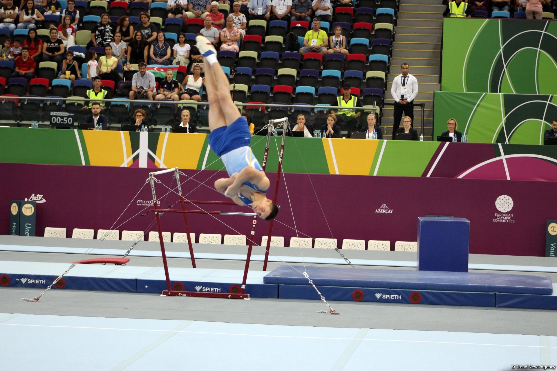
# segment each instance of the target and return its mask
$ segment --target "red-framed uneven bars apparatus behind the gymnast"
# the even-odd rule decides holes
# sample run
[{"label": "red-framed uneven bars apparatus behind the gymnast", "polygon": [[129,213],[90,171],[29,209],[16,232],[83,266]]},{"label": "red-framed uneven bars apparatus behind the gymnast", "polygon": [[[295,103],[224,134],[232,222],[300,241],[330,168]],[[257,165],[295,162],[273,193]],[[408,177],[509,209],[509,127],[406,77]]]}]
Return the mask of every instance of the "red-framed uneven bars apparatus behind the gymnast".
[{"label": "red-framed uneven bars apparatus behind the gymnast", "polygon": [[[281,141],[281,149],[278,154],[278,169],[277,169],[277,179],[275,183],[275,195],[273,196],[273,202],[276,203],[277,194],[278,194],[278,185],[280,181],[280,172],[282,170],[282,155],[284,153],[284,142],[286,137],[286,131],[289,130],[288,127],[288,118],[280,118],[277,120],[269,120],[269,124],[267,125],[267,142],[265,145],[265,153],[263,154],[263,161],[261,167],[263,171],[267,166],[267,158],[269,152],[269,142],[271,140],[271,133],[273,131],[273,124],[280,124],[282,123],[284,126],[284,130],[282,131],[282,141]],[[278,126],[277,126],[278,127]],[[180,206],[181,210],[176,209],[159,209],[157,205],[157,195],[155,194],[155,175],[166,174],[168,172],[174,172],[174,176],[178,183],[178,194],[180,196]],[[160,170],[155,172],[149,173],[149,183],[151,185],[151,192],[153,195],[153,209],[149,211],[153,211],[155,213],[155,219],[157,220],[157,229],[159,234],[159,243],[160,243],[160,251],[163,258],[163,266],[164,266],[164,275],[167,281],[167,290],[162,292],[163,296],[198,296],[204,298],[228,298],[228,299],[250,299],[250,295],[245,293],[246,290],[246,281],[247,281],[247,272],[250,268],[250,261],[251,261],[251,252],[253,248],[253,238],[255,236],[255,226],[257,224],[257,214],[253,212],[227,212],[227,211],[205,211],[205,210],[186,210],[185,204],[211,204],[211,205],[236,205],[233,201],[189,201],[185,200],[182,194],[182,185],[180,184],[180,172],[177,167],[173,169],[167,170]],[[173,286],[170,285],[170,275],[168,272],[168,263],[167,263],[167,256],[166,251],[164,248],[164,240],[163,240],[163,230],[162,225],[160,224],[160,214],[163,212],[176,212],[183,215],[184,218],[184,226],[186,231],[186,236],[188,239],[188,248],[190,259],[192,260],[192,268],[196,268],[196,260],[193,253],[193,246],[192,246],[192,239],[189,234],[189,227],[188,227],[188,219],[186,214],[213,214],[213,215],[234,215],[234,216],[252,216],[252,226],[251,226],[251,233],[249,243],[248,243],[248,250],[246,255],[246,266],[244,268],[243,278],[242,278],[242,285],[238,287],[238,285],[231,285],[229,289],[229,293],[211,293],[211,292],[198,292],[198,291],[183,291],[183,284],[174,283]],[[267,267],[267,260],[269,254],[269,247],[271,243],[271,233],[272,233],[272,226],[273,220],[271,220],[271,224],[269,226],[269,233],[267,238],[267,248],[265,250],[265,262],[263,264],[263,270],[266,270]]]}]

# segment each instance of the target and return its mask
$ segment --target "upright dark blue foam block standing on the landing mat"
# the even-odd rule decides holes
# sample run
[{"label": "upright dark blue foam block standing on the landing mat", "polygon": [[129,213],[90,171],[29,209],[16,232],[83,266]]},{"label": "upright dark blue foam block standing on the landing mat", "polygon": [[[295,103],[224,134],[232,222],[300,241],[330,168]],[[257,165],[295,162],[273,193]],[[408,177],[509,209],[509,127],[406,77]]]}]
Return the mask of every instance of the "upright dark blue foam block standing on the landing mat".
[{"label": "upright dark blue foam block standing on the landing mat", "polygon": [[418,270],[468,271],[470,221],[463,217],[418,217]]}]

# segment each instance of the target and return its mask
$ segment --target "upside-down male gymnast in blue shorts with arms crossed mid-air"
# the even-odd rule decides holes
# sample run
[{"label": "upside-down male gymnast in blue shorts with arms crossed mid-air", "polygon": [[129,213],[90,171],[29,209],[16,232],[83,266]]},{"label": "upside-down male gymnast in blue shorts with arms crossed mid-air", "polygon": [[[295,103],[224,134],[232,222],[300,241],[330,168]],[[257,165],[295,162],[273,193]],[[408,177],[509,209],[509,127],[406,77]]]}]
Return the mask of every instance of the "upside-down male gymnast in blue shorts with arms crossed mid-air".
[{"label": "upside-down male gymnast in blue shorts with arms crossed mid-air", "polygon": [[205,88],[209,101],[209,145],[220,156],[228,178],[214,187],[238,205],[250,205],[257,216],[273,219],[278,207],[267,199],[269,180],[250,148],[251,133],[245,117],[240,116],[229,92],[228,78],[217,61],[217,51],[203,36],[197,36],[203,55]]}]

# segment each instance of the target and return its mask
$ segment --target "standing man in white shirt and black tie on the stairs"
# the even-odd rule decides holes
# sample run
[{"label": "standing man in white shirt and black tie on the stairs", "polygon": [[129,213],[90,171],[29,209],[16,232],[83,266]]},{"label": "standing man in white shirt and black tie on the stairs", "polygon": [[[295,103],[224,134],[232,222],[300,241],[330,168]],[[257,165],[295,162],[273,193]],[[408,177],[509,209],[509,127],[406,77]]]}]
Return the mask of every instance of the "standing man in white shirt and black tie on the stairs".
[{"label": "standing man in white shirt and black tie on the stairs", "polygon": [[[394,78],[390,93],[394,99],[393,112],[393,139],[400,126],[400,119],[409,116],[414,122],[414,98],[418,95],[418,80],[410,75],[410,65],[402,63],[400,65],[400,75]],[[412,125],[413,127],[413,125]]]}]

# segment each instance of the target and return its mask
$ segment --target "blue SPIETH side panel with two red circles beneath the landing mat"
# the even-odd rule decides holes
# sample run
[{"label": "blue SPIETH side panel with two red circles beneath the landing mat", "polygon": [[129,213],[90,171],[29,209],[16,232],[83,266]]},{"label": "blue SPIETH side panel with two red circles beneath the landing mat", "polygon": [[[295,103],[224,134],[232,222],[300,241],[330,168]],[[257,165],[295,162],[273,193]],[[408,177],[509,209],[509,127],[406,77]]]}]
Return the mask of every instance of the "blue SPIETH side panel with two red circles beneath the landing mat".
[{"label": "blue SPIETH side panel with two red circles beneath the landing mat", "polygon": [[[317,286],[327,300],[369,301],[371,303],[402,303],[428,305],[495,306],[494,293],[463,293],[458,291],[355,289],[348,287]],[[361,295],[355,297],[355,290]],[[312,286],[279,285],[280,299],[321,300]],[[360,300],[358,300],[360,299]]]}]

